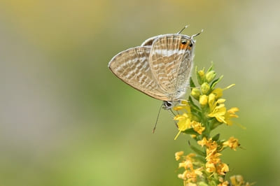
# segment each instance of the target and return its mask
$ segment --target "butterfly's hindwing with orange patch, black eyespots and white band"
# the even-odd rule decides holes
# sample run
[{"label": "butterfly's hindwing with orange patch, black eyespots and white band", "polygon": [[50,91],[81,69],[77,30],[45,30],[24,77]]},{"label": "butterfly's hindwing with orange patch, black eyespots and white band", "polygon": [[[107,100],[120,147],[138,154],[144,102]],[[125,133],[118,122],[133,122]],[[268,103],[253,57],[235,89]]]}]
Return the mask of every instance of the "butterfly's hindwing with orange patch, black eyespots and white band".
[{"label": "butterfly's hindwing with orange patch, black eyespots and white band", "polygon": [[186,93],[193,66],[193,46],[190,43],[190,37],[182,34],[166,34],[153,41],[149,58],[151,71],[162,90],[168,93],[169,101]]}]

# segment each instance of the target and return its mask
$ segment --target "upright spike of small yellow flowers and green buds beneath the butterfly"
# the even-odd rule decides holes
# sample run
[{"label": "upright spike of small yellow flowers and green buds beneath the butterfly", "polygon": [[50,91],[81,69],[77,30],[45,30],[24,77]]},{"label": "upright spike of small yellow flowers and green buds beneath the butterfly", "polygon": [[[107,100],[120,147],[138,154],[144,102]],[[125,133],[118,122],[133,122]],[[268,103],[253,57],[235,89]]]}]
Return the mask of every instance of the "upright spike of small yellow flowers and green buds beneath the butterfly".
[{"label": "upright spike of small yellow flowers and green buds beneath the butterfly", "polygon": [[237,150],[238,139],[230,137],[228,141],[221,140],[220,134],[211,136],[211,131],[221,124],[232,125],[232,118],[238,117],[237,107],[226,108],[225,99],[222,98],[223,91],[228,90],[234,84],[220,88],[216,85],[223,76],[216,78],[216,72],[212,66],[205,71],[195,69],[197,83],[196,87],[190,79],[191,93],[188,101],[181,101],[179,106],[174,107],[178,113],[174,117],[177,121],[179,134],[190,134],[195,139],[197,145],[190,145],[195,153],[183,155],[183,151],[176,152],[175,158],[179,163],[179,168],[183,168],[183,173],[179,178],[184,185],[250,185],[245,183],[241,176],[232,176],[230,181],[224,180],[228,173],[229,166],[221,160],[221,152],[225,148]]}]

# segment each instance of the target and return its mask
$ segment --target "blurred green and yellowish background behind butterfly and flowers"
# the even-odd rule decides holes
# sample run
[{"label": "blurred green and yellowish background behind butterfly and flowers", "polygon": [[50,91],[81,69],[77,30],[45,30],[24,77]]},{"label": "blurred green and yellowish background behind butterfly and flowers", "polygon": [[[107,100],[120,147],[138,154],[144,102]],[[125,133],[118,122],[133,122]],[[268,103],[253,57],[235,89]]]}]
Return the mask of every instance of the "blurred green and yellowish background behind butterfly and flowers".
[{"label": "blurred green and yellowish background behind butterfly and flowers", "polygon": [[190,152],[161,101],[113,76],[121,50],[158,34],[196,34],[195,64],[213,60],[227,106],[240,108],[230,173],[280,185],[279,1],[0,1],[0,185],[183,185]]}]

